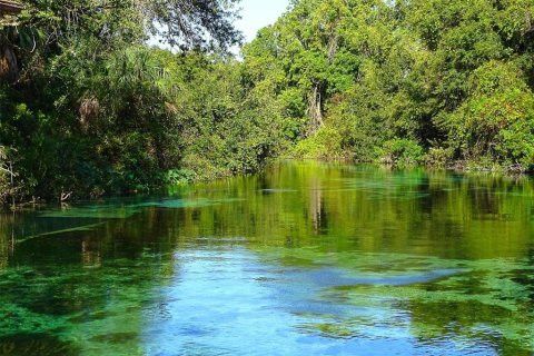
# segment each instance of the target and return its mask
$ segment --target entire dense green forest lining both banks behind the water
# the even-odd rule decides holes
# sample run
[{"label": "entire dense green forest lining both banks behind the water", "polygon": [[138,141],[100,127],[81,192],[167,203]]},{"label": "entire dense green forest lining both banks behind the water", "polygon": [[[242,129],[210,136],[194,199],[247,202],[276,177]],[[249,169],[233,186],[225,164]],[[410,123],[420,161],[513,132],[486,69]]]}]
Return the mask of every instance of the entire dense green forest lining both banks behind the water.
[{"label": "entire dense green forest lining both banks behind the water", "polygon": [[239,59],[237,0],[22,3],[0,28],[3,200],[288,156],[534,167],[532,0],[293,0]]}]

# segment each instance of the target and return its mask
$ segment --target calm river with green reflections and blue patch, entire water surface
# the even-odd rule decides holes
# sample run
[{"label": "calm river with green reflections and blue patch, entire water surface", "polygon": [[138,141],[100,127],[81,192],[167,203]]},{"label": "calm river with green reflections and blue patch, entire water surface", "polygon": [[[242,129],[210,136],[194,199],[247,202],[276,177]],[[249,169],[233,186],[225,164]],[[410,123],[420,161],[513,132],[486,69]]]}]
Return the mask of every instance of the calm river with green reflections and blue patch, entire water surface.
[{"label": "calm river with green reflections and blue patch, entire water surface", "polygon": [[534,355],[534,182],[299,162],[0,216],[0,355]]}]

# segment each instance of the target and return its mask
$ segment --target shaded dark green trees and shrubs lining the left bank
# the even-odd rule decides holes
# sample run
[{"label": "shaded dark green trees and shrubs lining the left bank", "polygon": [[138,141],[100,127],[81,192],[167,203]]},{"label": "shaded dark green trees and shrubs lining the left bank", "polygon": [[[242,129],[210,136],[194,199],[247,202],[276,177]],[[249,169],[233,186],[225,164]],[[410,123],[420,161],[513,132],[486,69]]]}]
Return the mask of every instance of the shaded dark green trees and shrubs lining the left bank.
[{"label": "shaded dark green trees and shrubs lining the left bank", "polygon": [[[236,2],[27,1],[18,27],[0,30],[21,65],[0,91],[19,198],[147,191],[261,168],[281,123],[224,53],[240,40]],[[181,51],[149,48],[149,33]]]}]

